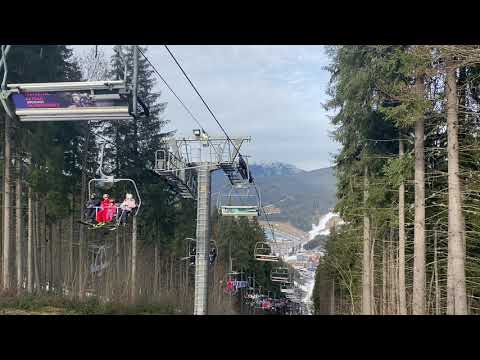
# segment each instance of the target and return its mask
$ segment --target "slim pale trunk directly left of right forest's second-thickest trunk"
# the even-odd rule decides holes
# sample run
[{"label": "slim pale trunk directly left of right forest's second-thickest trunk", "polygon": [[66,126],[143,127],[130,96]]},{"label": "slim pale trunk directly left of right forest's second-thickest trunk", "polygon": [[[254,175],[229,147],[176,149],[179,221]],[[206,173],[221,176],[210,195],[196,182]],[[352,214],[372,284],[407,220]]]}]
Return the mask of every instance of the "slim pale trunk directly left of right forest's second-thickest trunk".
[{"label": "slim pale trunk directly left of right forest's second-thickest trunk", "polygon": [[[400,135],[401,136],[401,135]],[[399,156],[403,158],[404,144],[399,142]],[[407,315],[407,295],[405,291],[405,183],[398,189],[398,290],[400,315]]]}]

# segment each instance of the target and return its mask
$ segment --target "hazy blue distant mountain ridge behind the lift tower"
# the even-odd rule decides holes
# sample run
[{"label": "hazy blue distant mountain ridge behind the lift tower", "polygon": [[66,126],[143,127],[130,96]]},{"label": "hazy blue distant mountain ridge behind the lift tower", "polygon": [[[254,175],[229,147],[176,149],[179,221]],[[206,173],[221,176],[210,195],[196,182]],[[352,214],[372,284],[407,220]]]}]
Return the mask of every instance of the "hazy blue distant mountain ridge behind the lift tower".
[{"label": "hazy blue distant mountain ridge behind the lift tower", "polygon": [[[250,165],[255,183],[260,190],[263,206],[280,208],[272,214],[272,221],[287,221],[304,231],[310,231],[318,216],[328,213],[336,202],[336,177],[333,168],[312,171],[298,169],[281,162]],[[212,201],[215,193],[229,191],[228,180],[221,171],[214,172]]]}]

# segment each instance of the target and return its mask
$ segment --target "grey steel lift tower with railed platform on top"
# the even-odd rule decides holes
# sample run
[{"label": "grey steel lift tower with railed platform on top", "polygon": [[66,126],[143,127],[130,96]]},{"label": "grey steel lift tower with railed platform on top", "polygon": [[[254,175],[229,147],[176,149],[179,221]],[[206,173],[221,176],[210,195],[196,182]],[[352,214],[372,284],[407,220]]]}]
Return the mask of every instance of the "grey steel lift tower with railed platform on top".
[{"label": "grey steel lift tower with railed platform on top", "polygon": [[208,313],[208,253],[212,172],[223,170],[232,185],[248,181],[240,148],[248,137],[210,138],[196,129],[193,138],[171,140],[155,154],[154,171],[183,198],[197,198],[194,315]]}]

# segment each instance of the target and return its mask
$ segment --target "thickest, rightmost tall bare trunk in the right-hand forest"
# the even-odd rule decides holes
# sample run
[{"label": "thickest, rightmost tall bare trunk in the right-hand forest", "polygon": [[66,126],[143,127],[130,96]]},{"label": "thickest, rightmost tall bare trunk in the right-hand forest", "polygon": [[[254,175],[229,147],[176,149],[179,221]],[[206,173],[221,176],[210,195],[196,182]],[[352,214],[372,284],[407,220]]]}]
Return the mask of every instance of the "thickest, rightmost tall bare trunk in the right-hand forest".
[{"label": "thickest, rightmost tall bare trunk in the right-hand forest", "polygon": [[[458,145],[458,97],[456,69],[448,64],[447,72],[447,125],[448,125],[448,257],[452,267],[447,277],[447,288],[453,289],[453,296],[447,296],[452,306],[449,315],[466,315],[467,294],[465,287],[465,248],[463,244],[463,212],[462,194],[459,177],[459,145]],[[452,285],[453,284],[453,285]]]}]

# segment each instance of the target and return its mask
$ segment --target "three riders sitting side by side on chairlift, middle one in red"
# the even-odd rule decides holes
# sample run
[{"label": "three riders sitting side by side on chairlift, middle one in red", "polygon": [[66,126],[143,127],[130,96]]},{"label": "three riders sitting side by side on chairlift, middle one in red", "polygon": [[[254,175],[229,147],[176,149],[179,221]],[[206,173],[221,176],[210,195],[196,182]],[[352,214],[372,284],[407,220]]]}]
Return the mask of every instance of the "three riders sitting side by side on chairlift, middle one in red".
[{"label": "three riders sitting side by side on chairlift, middle one in red", "polygon": [[89,224],[96,226],[113,221],[125,226],[129,214],[136,207],[135,199],[130,193],[125,194],[125,199],[121,203],[116,203],[108,194],[103,194],[102,200],[97,199],[96,194],[92,194],[85,204],[85,219]]}]

